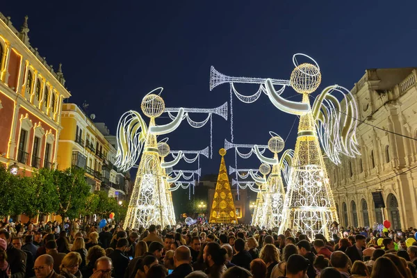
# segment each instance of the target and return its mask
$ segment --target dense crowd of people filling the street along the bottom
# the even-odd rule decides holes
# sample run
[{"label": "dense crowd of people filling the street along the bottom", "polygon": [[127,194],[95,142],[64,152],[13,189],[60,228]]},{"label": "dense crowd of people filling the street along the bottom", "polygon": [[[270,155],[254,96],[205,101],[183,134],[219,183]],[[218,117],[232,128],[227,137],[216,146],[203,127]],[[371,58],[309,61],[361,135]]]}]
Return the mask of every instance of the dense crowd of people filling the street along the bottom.
[{"label": "dense crowd of people filling the street along the bottom", "polygon": [[0,224],[0,278],[417,277],[412,228],[337,228],[328,240],[245,224]]}]

